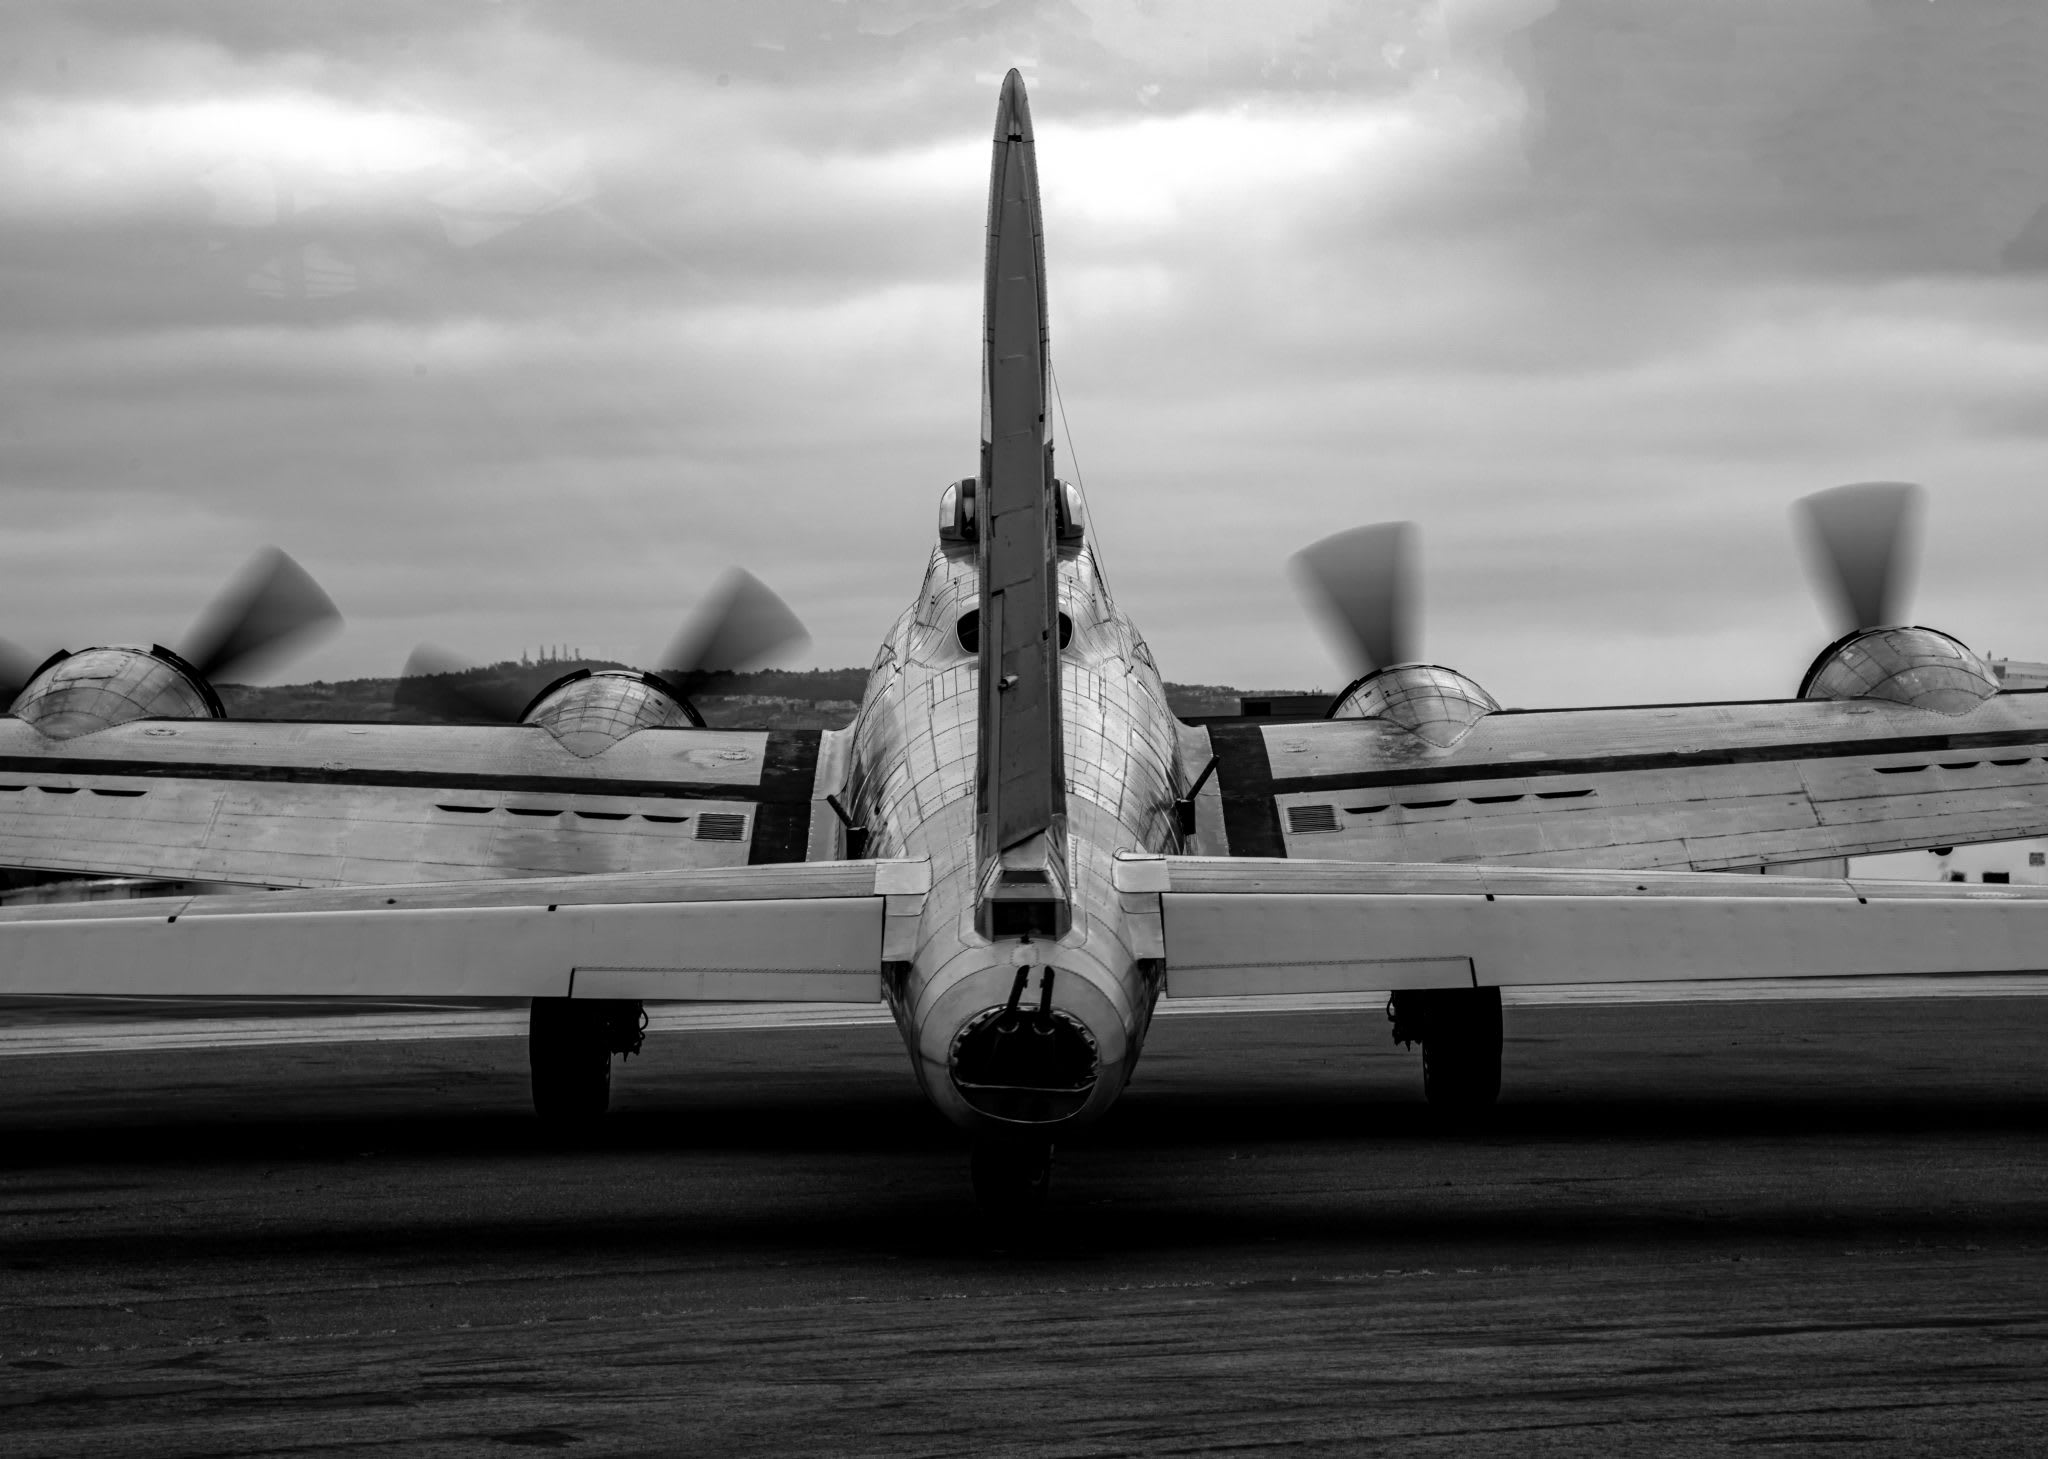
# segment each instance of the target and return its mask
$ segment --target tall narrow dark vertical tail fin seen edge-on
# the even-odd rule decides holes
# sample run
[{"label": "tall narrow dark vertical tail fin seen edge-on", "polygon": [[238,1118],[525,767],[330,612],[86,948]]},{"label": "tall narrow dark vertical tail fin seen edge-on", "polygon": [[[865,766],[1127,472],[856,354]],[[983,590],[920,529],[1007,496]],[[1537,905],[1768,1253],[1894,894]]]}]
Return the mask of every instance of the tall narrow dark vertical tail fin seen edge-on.
[{"label": "tall narrow dark vertical tail fin seen edge-on", "polygon": [[981,324],[981,924],[1067,926],[1044,234],[1024,78],[1004,78]]}]

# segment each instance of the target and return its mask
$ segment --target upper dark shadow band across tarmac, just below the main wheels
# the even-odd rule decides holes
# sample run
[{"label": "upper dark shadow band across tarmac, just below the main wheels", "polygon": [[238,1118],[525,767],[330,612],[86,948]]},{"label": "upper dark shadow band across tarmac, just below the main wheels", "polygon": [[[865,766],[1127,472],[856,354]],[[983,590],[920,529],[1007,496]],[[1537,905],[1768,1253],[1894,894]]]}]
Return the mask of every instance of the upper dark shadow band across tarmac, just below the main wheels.
[{"label": "upper dark shadow band across tarmac, just below the main wheels", "polygon": [[[377,1100],[387,1102],[387,1100]],[[692,1152],[803,1156],[954,1152],[965,1141],[901,1094],[819,1088],[807,1098],[670,1094],[645,1098],[592,1125],[545,1125],[520,1109],[520,1090],[506,1090],[502,1111],[432,1109],[432,1094],[408,1115],[293,1111],[287,1100],[268,1115],[195,1115],[66,1119],[39,1127],[23,1111],[0,1113],[0,1168],[145,1164],[244,1164],[330,1160],[362,1150],[406,1156],[512,1158],[573,1154]],[[1270,1088],[1219,1086],[1200,1092],[1133,1092],[1100,1127],[1067,1150],[1257,1150],[1339,1145],[1370,1160],[1382,1148],[1530,1145],[1530,1143],[1669,1143],[1751,1141],[1757,1137],[1886,1135],[2042,1135],[2048,1133],[2048,1090],[2040,1094],[1774,1094],[1729,1098],[1655,1094],[1626,1100],[1536,1094],[1503,1102],[1483,1117],[1446,1117],[1419,1098],[1360,1094],[1331,1098],[1282,1094]]]}]

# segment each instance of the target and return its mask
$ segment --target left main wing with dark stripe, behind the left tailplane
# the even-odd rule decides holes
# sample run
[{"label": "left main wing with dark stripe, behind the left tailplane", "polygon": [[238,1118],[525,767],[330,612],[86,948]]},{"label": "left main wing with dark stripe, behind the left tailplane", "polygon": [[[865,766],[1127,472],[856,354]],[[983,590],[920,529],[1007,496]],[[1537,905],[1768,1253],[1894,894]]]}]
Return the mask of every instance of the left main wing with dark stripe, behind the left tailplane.
[{"label": "left main wing with dark stripe, behind the left tailplane", "polygon": [[0,867],[338,887],[819,861],[827,742],[651,727],[582,758],[537,725],[0,719]]}]

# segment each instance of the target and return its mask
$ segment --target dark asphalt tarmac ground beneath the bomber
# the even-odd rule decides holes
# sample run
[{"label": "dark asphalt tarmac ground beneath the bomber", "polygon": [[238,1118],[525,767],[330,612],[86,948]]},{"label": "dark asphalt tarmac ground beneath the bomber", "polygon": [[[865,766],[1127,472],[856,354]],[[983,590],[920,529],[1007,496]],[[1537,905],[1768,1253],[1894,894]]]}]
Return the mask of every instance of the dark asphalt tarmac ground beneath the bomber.
[{"label": "dark asphalt tarmac ground beneath the bomber", "polygon": [[0,1061],[0,1451],[2042,1453],[2048,1000],[1167,1018],[997,1244],[889,1029]]}]

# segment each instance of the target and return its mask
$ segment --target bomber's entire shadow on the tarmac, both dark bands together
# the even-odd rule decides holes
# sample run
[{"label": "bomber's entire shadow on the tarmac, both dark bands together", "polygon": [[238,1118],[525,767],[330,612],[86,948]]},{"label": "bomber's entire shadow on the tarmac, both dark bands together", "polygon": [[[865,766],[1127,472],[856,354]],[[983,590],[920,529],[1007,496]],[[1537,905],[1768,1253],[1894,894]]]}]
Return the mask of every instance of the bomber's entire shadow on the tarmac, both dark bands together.
[{"label": "bomber's entire shadow on the tarmac, both dark bands together", "polygon": [[[6,1123],[14,1201],[106,1209],[164,1199],[160,1180],[236,1191],[233,1217],[147,1234],[16,1225],[4,1260],[18,1270],[315,1252],[453,1260],[573,1250],[580,1260],[645,1260],[989,1248],[958,1178],[958,1137],[911,1092],[768,1109],[678,1100],[623,1111],[592,1131],[483,1111],[43,1133]],[[1061,1195],[1028,1246],[1108,1256],[1284,1242],[1481,1260],[1507,1246],[1589,1242],[1702,1250],[2025,1242],[2048,1215],[2038,1182],[1978,1201],[1964,1174],[1956,1199],[1946,1199],[1886,1189],[1886,1170],[1925,1158],[1929,1145],[1950,1158],[1958,1145],[1978,1148],[1974,1160],[1991,1170],[2042,1131],[2048,1098],[1544,1098],[1454,1129],[1421,1104],[1386,1098],[1165,1092],[1130,1100],[1063,1154]],[[106,1180],[49,1184],[80,1168]],[[1823,1168],[1835,1178],[1821,1178]],[[346,1209],[264,1211],[268,1186],[254,1182],[276,1170],[340,1172],[365,1189]],[[1864,1193],[1843,1197],[1843,1182]]]}]

